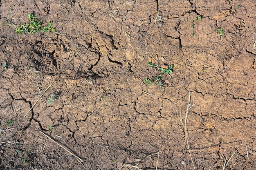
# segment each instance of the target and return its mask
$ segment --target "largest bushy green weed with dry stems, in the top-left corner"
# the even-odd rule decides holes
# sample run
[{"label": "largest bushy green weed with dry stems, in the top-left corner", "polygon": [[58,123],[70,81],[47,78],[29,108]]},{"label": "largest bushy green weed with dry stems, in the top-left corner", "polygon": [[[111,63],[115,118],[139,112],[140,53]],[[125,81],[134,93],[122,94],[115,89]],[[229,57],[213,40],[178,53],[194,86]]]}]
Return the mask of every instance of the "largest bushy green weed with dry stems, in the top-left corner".
[{"label": "largest bushy green weed with dry stems, in the top-left corner", "polygon": [[15,25],[13,23],[10,22],[10,12],[7,16],[7,21],[8,23],[2,23],[2,25],[8,25],[11,26],[12,28],[15,28],[15,32],[20,35],[21,33],[24,32],[28,32],[28,33],[35,33],[35,32],[40,32],[41,30],[43,30],[43,32],[47,33],[47,32],[55,32],[55,29],[52,28],[52,21],[49,22],[48,26],[42,26],[42,23],[36,18],[36,16],[34,16],[34,14],[29,13],[28,14],[28,19],[29,22],[28,23],[22,23],[20,25]]}]

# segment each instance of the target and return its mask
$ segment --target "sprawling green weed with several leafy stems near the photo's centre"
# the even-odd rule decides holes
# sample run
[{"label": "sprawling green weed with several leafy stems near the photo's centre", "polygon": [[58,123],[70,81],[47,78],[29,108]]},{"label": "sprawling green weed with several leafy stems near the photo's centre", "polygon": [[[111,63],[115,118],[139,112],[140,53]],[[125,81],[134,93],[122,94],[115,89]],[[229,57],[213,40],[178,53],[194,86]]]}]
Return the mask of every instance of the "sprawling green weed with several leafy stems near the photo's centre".
[{"label": "sprawling green weed with several leafy stems near the photo's centre", "polygon": [[169,75],[170,73],[173,73],[173,67],[174,65],[169,65],[168,68],[161,68],[159,64],[152,64],[152,62],[148,62],[147,66],[150,68],[155,68],[158,73],[154,77],[146,78],[143,81],[146,82],[147,85],[153,83],[155,81],[156,85],[159,85],[160,88],[163,88],[162,84],[162,74]]}]

